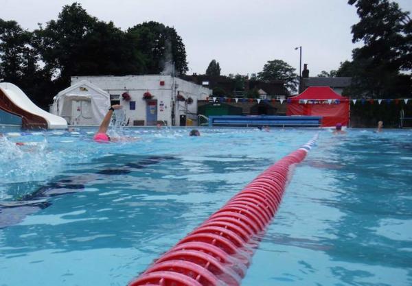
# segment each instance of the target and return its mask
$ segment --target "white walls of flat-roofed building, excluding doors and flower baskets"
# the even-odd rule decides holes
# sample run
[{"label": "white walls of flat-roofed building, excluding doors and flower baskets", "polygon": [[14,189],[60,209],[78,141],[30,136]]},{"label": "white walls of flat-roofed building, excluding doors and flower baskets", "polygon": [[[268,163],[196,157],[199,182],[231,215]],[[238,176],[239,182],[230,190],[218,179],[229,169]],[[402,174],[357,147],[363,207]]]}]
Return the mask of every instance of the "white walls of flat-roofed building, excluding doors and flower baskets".
[{"label": "white walls of flat-roofed building, excluding doors and flower baskets", "polygon": [[[126,121],[133,125],[134,121],[144,121],[146,125],[147,102],[143,99],[146,92],[157,100],[157,121],[165,121],[168,126],[172,123],[172,109],[175,106],[175,122],[179,125],[180,115],[186,115],[196,123],[197,101],[206,99],[211,90],[192,82],[186,82],[170,75],[126,75],[126,76],[81,76],[72,77],[71,84],[87,80],[99,86],[110,95],[119,95],[120,104],[126,113]],[[174,91],[173,91],[174,89]],[[130,101],[122,99],[122,93],[130,95]],[[176,101],[176,95],[192,97],[193,103]],[[135,102],[135,110],[130,110],[130,102]]]}]

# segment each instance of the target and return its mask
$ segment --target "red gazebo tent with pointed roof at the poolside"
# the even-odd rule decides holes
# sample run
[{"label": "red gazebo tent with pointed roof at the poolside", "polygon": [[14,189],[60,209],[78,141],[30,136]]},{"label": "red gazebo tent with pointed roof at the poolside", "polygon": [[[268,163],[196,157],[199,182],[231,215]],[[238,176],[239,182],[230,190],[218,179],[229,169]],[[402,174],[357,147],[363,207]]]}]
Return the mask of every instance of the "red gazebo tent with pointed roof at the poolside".
[{"label": "red gazebo tent with pointed roof at the poolside", "polygon": [[322,127],[349,123],[350,102],[329,86],[310,86],[300,95],[288,99],[286,115],[321,116]]}]

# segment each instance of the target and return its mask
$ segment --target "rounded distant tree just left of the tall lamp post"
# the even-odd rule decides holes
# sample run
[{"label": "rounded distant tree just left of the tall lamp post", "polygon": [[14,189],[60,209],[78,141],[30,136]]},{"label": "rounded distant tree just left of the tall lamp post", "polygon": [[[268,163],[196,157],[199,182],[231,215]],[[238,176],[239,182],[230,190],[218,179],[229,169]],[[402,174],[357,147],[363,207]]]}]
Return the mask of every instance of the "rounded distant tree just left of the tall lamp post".
[{"label": "rounded distant tree just left of the tall lamp post", "polygon": [[299,84],[295,69],[283,60],[269,60],[264,65],[263,71],[258,73],[258,80],[264,82],[282,80],[289,92],[296,92]]}]

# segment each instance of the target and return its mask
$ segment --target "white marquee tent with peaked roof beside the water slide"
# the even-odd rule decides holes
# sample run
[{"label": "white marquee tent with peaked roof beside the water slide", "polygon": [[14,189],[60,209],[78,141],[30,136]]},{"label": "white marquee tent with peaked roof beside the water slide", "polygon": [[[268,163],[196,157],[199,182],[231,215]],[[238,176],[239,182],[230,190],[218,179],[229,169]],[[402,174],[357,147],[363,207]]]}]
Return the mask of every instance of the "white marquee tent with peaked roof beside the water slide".
[{"label": "white marquee tent with peaked roof beside the water slide", "polygon": [[110,104],[110,95],[106,91],[82,80],[54,97],[51,112],[71,125],[99,125]]}]

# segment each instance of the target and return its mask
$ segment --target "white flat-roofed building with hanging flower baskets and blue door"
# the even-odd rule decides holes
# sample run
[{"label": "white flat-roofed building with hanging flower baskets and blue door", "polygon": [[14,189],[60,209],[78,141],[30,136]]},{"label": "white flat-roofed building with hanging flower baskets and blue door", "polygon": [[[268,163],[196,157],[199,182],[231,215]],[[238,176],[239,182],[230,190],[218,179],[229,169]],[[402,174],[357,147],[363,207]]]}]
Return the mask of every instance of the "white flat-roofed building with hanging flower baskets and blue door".
[{"label": "white flat-roofed building with hanging flower baskets and blue door", "polygon": [[[170,75],[76,76],[71,85],[91,82],[121,104],[129,126],[190,125],[197,122],[197,101],[211,95],[211,89]],[[144,95],[150,99],[144,99]]]}]

